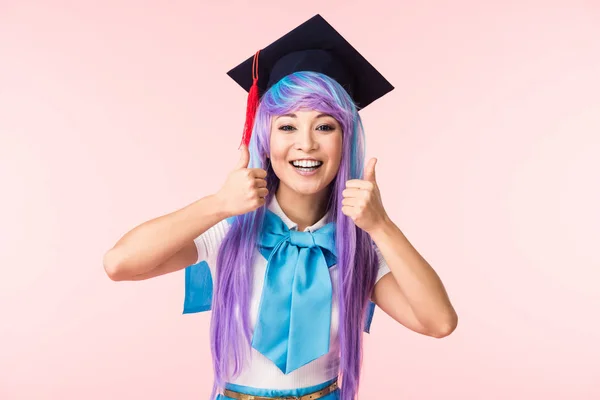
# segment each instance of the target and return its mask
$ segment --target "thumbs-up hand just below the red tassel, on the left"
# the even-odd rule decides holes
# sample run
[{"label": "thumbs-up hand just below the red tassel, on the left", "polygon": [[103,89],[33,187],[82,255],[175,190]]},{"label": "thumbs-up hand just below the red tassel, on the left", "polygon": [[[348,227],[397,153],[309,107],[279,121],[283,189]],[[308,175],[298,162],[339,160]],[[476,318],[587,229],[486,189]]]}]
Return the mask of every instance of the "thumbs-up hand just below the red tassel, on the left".
[{"label": "thumbs-up hand just below the red tassel, on the left", "polygon": [[235,216],[256,210],[265,204],[267,171],[261,168],[248,168],[250,152],[242,145],[240,161],[229,173],[225,184],[216,193],[223,204],[226,215]]}]

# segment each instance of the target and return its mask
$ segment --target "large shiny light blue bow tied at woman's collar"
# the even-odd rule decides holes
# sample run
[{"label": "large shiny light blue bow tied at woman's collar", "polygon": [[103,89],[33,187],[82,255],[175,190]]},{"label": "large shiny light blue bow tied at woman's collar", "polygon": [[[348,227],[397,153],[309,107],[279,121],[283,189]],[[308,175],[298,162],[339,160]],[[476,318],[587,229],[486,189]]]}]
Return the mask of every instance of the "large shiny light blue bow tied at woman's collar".
[{"label": "large shiny light blue bow tied at woman's collar", "polygon": [[298,232],[267,210],[258,248],[267,270],[252,347],[288,374],[329,352],[335,225]]}]

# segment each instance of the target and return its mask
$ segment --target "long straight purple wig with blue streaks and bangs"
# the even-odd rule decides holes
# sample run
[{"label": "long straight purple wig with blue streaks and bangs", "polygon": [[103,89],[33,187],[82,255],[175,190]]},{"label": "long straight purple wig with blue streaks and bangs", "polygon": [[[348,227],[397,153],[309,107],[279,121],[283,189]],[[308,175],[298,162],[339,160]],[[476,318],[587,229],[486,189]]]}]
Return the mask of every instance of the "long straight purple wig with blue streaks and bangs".
[{"label": "long straight purple wig with blue streaks and bangs", "polygon": [[[358,393],[364,317],[375,284],[377,255],[370,236],[341,210],[346,181],[362,178],[364,131],[356,105],[335,80],[316,72],[296,72],[280,80],[260,100],[249,144],[249,167],[266,169],[269,196],[275,194],[279,185],[279,178],[267,160],[271,119],[299,109],[330,114],[342,126],[342,157],[337,176],[329,187],[328,211],[336,224],[340,272],[340,393],[341,400],[353,400]],[[265,207],[237,216],[218,253],[210,332],[215,377],[211,399],[228,379],[239,375],[249,360],[252,266]]]}]

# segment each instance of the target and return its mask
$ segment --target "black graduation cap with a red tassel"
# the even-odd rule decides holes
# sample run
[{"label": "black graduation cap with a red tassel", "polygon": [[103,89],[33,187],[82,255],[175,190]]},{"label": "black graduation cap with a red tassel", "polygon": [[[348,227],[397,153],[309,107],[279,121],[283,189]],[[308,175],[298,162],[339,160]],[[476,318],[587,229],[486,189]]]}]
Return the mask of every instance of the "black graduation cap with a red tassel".
[{"label": "black graduation cap with a red tassel", "polygon": [[258,101],[271,86],[297,71],[314,71],[335,79],[359,109],[394,87],[321,15],[288,32],[227,75],[248,92],[242,142],[248,145]]}]

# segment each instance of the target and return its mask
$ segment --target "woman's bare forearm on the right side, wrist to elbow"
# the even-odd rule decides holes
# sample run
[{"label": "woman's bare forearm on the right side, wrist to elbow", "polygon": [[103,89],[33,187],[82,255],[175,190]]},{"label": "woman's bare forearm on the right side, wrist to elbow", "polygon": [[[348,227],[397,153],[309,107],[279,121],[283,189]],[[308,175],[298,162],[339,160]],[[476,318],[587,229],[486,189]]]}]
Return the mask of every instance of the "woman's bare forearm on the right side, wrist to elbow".
[{"label": "woman's bare forearm on the right side, wrist to elbow", "polygon": [[371,232],[415,316],[432,330],[453,330],[457,315],[434,269],[389,219]]}]

